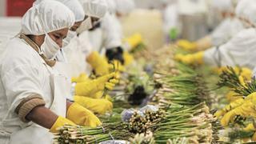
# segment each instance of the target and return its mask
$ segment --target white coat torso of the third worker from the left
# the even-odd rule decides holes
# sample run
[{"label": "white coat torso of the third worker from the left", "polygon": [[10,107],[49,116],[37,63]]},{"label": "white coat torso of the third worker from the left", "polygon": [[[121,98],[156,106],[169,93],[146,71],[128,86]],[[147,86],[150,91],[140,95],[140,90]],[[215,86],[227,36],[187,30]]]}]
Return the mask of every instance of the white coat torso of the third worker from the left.
[{"label": "white coat torso of the third worker from the left", "polygon": [[66,54],[70,78],[78,77],[82,73],[90,74],[91,68],[90,64],[86,62],[86,57],[91,53],[91,48],[86,45],[86,41],[82,41],[82,38],[76,36],[62,49]]}]

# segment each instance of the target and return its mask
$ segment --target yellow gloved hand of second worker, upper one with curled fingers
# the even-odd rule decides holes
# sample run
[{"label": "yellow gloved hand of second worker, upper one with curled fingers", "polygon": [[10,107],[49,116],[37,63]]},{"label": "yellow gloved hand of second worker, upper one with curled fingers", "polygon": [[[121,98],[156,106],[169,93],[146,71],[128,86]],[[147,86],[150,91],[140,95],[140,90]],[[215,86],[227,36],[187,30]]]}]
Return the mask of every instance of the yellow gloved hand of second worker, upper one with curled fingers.
[{"label": "yellow gloved hand of second worker, upper one with curled fingers", "polygon": [[77,83],[74,87],[75,95],[90,96],[100,90],[106,89],[113,90],[114,86],[118,83],[116,73],[106,74],[94,80]]}]

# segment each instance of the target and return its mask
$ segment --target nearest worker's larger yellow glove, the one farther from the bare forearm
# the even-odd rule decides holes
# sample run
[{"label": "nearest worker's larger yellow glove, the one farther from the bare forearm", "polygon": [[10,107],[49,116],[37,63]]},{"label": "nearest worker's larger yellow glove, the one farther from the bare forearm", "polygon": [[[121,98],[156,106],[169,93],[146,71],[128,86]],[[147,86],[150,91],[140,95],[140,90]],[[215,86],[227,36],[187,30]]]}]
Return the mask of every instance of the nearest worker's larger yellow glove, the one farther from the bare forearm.
[{"label": "nearest worker's larger yellow glove, the one farther from the bare forearm", "polygon": [[67,110],[66,118],[80,126],[97,127],[102,125],[96,115],[77,103],[73,103]]}]

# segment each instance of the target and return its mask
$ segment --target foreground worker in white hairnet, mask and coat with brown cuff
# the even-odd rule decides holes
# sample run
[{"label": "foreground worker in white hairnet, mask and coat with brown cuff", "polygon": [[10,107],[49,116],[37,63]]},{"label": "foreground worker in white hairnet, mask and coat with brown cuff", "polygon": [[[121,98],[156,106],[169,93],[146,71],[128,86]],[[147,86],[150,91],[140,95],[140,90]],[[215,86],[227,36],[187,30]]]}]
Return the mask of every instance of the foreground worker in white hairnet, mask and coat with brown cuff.
[{"label": "foreground worker in white hairnet, mask and coat with brown cuff", "polygon": [[22,34],[6,46],[0,61],[0,142],[51,143],[64,124],[98,126],[98,118],[66,101],[69,82],[54,70],[54,54],[74,25],[74,14],[60,2],[34,4],[22,18]]}]

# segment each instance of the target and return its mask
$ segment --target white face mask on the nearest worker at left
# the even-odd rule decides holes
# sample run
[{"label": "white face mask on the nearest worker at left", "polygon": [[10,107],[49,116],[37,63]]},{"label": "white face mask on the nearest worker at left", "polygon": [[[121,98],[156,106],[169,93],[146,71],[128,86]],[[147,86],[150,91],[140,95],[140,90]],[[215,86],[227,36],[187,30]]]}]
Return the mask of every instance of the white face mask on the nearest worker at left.
[{"label": "white face mask on the nearest worker at left", "polygon": [[44,54],[46,58],[52,59],[60,49],[61,47],[58,46],[58,44],[54,42],[54,40],[50,38],[48,34],[46,34],[45,42],[43,42],[41,46],[42,54]]}]

